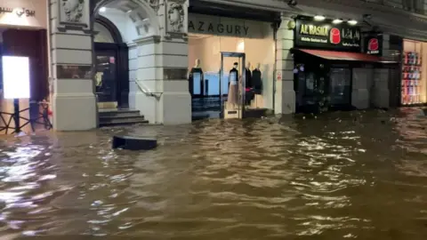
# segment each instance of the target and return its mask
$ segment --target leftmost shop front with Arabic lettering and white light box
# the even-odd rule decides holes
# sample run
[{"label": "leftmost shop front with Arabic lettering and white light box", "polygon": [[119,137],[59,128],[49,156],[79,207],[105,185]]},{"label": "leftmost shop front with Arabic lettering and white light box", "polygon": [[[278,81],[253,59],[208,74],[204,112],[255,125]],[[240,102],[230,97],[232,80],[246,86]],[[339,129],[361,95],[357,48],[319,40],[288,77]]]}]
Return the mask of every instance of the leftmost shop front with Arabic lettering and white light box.
[{"label": "leftmost shop front with Arabic lettering and white light box", "polygon": [[[0,123],[1,133],[13,132],[15,123],[23,125],[36,118],[37,102],[49,99],[48,7],[47,1],[40,2],[9,0],[0,4],[0,111],[4,119]],[[6,62],[5,59],[11,58],[25,64],[16,66]],[[10,82],[5,77],[11,72],[16,81]],[[16,84],[22,75],[26,80]],[[20,110],[17,116],[23,118],[8,121],[17,109]]]}]

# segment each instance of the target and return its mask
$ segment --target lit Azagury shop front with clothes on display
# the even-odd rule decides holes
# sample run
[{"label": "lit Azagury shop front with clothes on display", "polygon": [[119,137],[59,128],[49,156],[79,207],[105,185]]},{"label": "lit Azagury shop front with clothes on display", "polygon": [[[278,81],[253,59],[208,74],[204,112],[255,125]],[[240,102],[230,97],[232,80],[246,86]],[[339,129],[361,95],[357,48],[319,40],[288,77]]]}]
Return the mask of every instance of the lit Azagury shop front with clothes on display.
[{"label": "lit Azagury shop front with clothes on display", "polygon": [[193,119],[240,118],[273,108],[275,29],[271,22],[189,13]]}]

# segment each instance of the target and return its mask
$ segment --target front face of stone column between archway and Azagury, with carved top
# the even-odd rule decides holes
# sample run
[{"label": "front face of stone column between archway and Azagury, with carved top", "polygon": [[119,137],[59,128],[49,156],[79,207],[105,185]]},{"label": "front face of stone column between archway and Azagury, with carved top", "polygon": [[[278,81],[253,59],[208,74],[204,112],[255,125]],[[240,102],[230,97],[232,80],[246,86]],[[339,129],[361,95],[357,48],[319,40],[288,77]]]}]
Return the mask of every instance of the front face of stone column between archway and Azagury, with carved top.
[{"label": "front face of stone column between archway and Azagury, with carved top", "polygon": [[189,95],[188,46],[189,0],[165,0],[158,15],[165,28],[157,45],[157,76],[161,79],[162,95],[157,110],[163,124],[188,124],[191,122],[191,97]]}]

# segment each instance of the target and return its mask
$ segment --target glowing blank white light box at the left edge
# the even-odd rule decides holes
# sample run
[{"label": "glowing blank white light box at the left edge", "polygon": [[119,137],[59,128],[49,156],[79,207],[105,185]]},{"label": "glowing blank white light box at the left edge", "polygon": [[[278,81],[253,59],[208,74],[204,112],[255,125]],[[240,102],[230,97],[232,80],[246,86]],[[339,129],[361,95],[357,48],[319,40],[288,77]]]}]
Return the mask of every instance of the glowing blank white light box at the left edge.
[{"label": "glowing blank white light box at the left edge", "polygon": [[3,56],[4,99],[29,99],[28,57]]}]

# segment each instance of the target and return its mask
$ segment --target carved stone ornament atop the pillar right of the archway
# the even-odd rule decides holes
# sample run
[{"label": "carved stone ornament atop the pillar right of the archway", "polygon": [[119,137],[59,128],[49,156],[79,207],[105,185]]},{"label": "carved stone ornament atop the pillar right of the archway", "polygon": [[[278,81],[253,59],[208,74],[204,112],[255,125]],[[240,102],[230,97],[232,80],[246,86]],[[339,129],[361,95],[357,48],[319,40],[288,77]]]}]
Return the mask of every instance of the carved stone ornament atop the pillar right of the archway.
[{"label": "carved stone ornament atop the pillar right of the archway", "polygon": [[172,33],[183,33],[185,23],[185,11],[180,1],[167,3],[167,31]]}]

